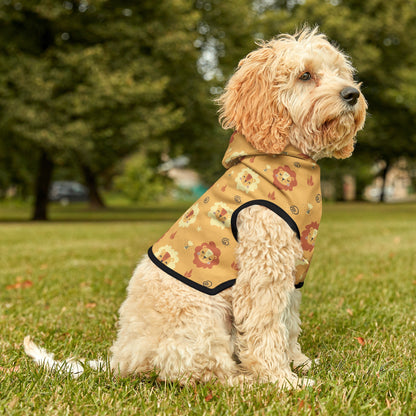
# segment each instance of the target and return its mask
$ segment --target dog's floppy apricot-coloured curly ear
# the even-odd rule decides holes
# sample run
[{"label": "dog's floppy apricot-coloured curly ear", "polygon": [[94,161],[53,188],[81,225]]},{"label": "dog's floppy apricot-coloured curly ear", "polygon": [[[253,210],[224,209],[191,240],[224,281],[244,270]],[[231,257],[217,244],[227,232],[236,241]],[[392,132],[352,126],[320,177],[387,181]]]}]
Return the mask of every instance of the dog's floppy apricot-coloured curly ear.
[{"label": "dog's floppy apricot-coloured curly ear", "polygon": [[223,128],[233,128],[257,150],[281,153],[292,120],[279,99],[276,51],[268,44],[242,59],[228,81],[220,104]]}]

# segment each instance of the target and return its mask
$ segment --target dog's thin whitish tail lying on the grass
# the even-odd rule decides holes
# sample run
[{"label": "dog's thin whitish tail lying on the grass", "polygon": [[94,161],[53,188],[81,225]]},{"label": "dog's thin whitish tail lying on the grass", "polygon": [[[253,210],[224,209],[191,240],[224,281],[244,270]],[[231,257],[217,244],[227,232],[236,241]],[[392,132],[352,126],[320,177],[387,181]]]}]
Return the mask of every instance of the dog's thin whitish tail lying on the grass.
[{"label": "dog's thin whitish tail lying on the grass", "polygon": [[107,368],[106,362],[103,360],[76,360],[74,358],[68,358],[64,361],[57,361],[54,359],[52,353],[47,352],[45,349],[38,347],[33,341],[30,335],[26,336],[23,340],[23,348],[25,353],[32,357],[37,365],[47,368],[48,370],[58,373],[68,373],[72,377],[79,377],[85,370],[85,366],[91,367],[93,370],[105,371]]}]

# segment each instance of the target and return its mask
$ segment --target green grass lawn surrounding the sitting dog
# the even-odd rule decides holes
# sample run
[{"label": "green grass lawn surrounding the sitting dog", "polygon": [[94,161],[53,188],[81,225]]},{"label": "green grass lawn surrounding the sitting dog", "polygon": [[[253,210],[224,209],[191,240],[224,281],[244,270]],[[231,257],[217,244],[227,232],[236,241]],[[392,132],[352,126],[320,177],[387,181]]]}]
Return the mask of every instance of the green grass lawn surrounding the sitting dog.
[{"label": "green grass lawn surrounding the sitting dog", "polygon": [[313,388],[179,387],[37,368],[22,350],[28,334],[57,359],[105,356],[136,262],[183,208],[113,209],[93,221],[83,206],[55,207],[51,216],[59,221],[40,224],[13,222],[25,218],[24,207],[14,217],[11,207],[0,207],[8,220],[0,224],[0,414],[416,414],[411,204],[324,206],[302,289],[301,343],[321,360],[309,374]]}]

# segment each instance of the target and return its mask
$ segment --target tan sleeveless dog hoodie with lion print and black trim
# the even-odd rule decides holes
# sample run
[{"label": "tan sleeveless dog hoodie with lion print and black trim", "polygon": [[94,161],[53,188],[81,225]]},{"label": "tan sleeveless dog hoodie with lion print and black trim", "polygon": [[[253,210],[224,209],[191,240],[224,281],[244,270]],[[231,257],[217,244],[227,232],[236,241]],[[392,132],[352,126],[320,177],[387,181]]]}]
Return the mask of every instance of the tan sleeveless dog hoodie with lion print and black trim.
[{"label": "tan sleeveless dog hoodie with lion print and black trim", "polygon": [[303,258],[293,282],[302,287],[322,212],[319,166],[292,146],[281,154],[261,153],[239,133],[231,136],[222,163],[227,171],[149,249],[150,259],[181,282],[215,295],[237,278],[238,214],[262,205],[301,241]]}]

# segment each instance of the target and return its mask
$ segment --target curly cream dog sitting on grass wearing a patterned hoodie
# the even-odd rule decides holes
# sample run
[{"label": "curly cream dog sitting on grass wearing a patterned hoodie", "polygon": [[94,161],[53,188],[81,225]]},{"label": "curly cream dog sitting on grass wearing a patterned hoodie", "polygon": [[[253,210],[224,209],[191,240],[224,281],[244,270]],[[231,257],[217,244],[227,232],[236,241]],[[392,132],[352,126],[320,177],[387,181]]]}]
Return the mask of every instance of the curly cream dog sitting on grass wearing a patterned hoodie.
[{"label": "curly cream dog sitting on grass wearing a patterned hoodie", "polygon": [[[222,127],[234,130],[227,171],[135,269],[111,347],[115,374],[313,384],[292,370],[313,363],[298,343],[300,287],[319,227],[317,161],[349,157],[364,126],[354,73],[317,28],[240,61],[218,99]],[[25,349],[41,361],[30,338]]]}]

